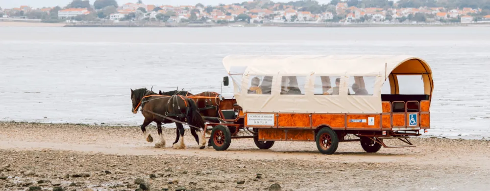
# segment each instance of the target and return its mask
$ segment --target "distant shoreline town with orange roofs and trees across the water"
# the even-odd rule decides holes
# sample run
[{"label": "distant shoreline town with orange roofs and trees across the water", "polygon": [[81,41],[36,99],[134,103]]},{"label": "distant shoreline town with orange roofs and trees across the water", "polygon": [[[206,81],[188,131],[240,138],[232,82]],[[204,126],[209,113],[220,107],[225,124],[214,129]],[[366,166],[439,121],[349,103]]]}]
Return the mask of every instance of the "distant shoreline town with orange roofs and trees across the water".
[{"label": "distant shoreline town with orange roofs and trees across the water", "polygon": [[[116,0],[73,0],[60,7],[0,7],[3,21],[13,19],[66,23],[159,23],[172,24],[268,24],[268,23],[378,23],[378,24],[450,24],[490,23],[490,0],[484,4],[465,0],[332,0],[319,4],[314,0],[275,3],[253,0],[242,3],[207,6],[153,5],[142,0],[119,5]],[[472,2],[472,0],[466,0]],[[466,7],[466,5],[469,5]],[[1,6],[1,5],[0,5]]]}]

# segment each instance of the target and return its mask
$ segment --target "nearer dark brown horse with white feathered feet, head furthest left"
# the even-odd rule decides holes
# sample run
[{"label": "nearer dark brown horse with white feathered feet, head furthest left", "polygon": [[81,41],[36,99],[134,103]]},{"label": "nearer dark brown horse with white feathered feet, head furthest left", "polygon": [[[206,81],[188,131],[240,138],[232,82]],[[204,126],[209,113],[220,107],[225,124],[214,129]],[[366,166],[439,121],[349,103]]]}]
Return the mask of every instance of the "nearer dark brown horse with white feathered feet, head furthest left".
[{"label": "nearer dark brown horse with white feathered feet, head furthest left", "polygon": [[[145,117],[145,120],[143,121],[143,125],[141,125],[141,130],[143,131],[147,142],[153,142],[153,138],[147,133],[146,127],[151,122],[157,124],[160,141],[155,144],[156,148],[164,148],[166,145],[162,135],[162,123],[174,123],[174,121],[161,116],[166,116],[167,118],[181,122],[187,122],[191,126],[204,129],[204,120],[199,113],[196,102],[185,96],[176,94],[159,95],[146,88],[141,88],[136,90],[131,89],[131,101],[133,105],[131,112],[137,113],[138,108],[140,106],[142,108],[142,114]],[[185,131],[184,127],[182,124],[176,122],[175,125],[177,126],[178,141],[173,143],[172,147],[174,149],[185,149],[186,147],[183,139]],[[204,134],[200,132],[200,129],[191,127],[191,134],[195,137],[199,148],[204,149],[206,141],[204,139]],[[197,135],[196,132],[199,135]]]}]

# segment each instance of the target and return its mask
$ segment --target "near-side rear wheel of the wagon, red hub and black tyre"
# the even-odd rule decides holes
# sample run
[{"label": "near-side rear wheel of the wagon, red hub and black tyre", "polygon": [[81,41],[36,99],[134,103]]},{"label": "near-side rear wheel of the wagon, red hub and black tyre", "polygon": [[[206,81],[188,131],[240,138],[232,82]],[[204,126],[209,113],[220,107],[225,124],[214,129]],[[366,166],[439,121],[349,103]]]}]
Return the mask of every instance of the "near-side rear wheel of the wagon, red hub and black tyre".
[{"label": "near-side rear wheel of the wagon, red hub and black tyre", "polygon": [[322,154],[333,154],[339,147],[337,133],[331,128],[325,127],[317,133],[317,148]]}]

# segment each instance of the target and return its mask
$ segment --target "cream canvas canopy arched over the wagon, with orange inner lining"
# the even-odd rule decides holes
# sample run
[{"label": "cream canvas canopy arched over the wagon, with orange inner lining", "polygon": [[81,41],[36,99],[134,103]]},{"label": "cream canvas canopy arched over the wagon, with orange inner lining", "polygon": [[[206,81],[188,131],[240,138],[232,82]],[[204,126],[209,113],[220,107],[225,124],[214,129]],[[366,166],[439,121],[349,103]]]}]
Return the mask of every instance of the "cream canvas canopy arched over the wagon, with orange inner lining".
[{"label": "cream canvas canopy arched over the wagon, with orange inner lining", "polygon": [[[399,94],[396,75],[401,74],[421,75],[426,95],[432,95],[434,86],[429,65],[410,55],[227,56],[223,65],[233,80],[237,103],[245,112],[382,113],[381,88],[387,79],[392,94]],[[247,93],[253,76],[273,76],[270,94]],[[281,94],[283,76],[304,77],[304,95]],[[339,94],[315,95],[316,76],[338,76]],[[373,79],[371,95],[348,95],[349,77],[353,76]]]}]

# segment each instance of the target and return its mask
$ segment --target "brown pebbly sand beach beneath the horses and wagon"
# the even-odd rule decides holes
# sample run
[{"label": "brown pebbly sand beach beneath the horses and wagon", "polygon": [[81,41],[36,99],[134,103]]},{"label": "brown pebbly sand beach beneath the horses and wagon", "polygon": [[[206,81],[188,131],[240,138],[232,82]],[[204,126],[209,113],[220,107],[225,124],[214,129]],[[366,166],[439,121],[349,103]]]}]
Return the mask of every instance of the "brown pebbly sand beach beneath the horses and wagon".
[{"label": "brown pebbly sand beach beneath the horses and wagon", "polygon": [[[257,149],[232,140],[226,151],[198,149],[186,131],[187,149],[172,149],[175,129],[165,128],[165,149],[147,143],[139,127],[0,123],[0,190],[151,191],[222,190],[486,190],[490,142],[414,138],[415,148],[366,153],[340,143],[321,155],[314,143],[276,142]],[[259,175],[257,175],[259,174]],[[142,178],[143,182],[137,182]],[[274,186],[272,186],[274,185]]]}]

